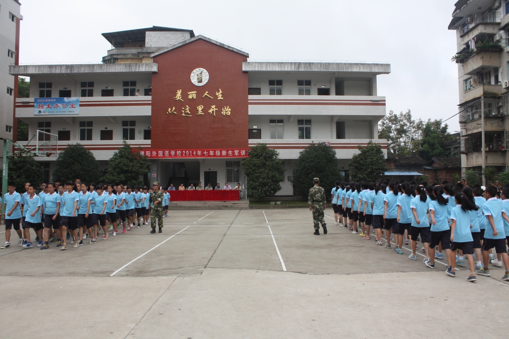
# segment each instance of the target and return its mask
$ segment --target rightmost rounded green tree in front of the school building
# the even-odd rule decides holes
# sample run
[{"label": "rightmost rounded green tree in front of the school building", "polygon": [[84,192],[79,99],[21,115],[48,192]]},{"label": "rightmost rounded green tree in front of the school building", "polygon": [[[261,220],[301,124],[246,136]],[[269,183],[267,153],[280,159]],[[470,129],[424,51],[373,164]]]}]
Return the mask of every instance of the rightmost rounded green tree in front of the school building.
[{"label": "rightmost rounded green tree in front of the school building", "polygon": [[388,170],[382,148],[378,144],[373,144],[372,140],[366,148],[359,146],[359,153],[352,157],[348,168],[357,181],[377,180]]}]

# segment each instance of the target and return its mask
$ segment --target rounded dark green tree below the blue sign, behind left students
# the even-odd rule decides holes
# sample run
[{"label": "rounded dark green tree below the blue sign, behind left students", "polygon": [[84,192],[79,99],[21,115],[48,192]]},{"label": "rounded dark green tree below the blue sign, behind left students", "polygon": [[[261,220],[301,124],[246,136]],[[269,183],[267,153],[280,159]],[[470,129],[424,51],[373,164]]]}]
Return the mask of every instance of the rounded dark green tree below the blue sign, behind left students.
[{"label": "rounded dark green tree below the blue sign, behind left students", "polygon": [[81,179],[83,182],[98,182],[101,166],[92,152],[80,144],[68,145],[56,158],[53,180],[65,183]]}]

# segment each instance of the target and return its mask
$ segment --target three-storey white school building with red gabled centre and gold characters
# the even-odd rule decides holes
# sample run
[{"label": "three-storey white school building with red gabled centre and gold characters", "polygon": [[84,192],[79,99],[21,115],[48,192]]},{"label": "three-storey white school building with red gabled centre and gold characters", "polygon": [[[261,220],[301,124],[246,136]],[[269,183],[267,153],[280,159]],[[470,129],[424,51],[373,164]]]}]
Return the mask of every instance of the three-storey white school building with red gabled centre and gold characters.
[{"label": "three-storey white school building with red gabled centre and gold characters", "polygon": [[[329,143],[346,173],[358,145],[373,140],[386,153],[377,76],[389,64],[254,62],[168,27],[102,35],[112,48],[101,64],[11,66],[10,74],[31,78],[30,98],[16,100],[29,134],[56,134],[59,148],[79,143],[104,170],[125,140],[149,158],[151,182],[245,185],[240,162],[266,143],[285,161],[278,194],[292,195],[293,163],[310,143]],[[54,162],[38,161],[52,172]]]}]

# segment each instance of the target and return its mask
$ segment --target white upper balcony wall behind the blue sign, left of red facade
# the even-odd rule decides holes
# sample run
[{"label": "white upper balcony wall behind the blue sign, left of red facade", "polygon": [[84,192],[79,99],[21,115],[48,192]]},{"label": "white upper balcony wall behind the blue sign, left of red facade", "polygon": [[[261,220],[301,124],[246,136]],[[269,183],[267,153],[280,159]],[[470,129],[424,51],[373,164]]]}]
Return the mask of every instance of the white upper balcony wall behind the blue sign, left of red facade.
[{"label": "white upper balcony wall behind the blue sign, left of red facade", "polygon": [[[137,117],[148,116],[152,112],[151,96],[132,97],[80,97],[79,114],[49,115],[46,117]],[[35,115],[34,98],[16,99],[16,118],[26,119]]]}]

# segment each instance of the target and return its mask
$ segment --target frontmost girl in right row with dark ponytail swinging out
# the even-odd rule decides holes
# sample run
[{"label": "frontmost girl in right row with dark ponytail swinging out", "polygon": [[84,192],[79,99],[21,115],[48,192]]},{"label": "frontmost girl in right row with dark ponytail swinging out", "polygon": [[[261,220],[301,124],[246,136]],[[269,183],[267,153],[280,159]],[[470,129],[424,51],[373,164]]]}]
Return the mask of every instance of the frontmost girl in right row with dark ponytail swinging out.
[{"label": "frontmost girl in right row with dark ponytail swinging out", "polygon": [[[470,211],[476,211],[473,201],[470,201],[468,197],[463,193],[456,193],[454,196],[456,207],[450,213],[451,225],[450,225],[450,241],[452,244],[453,252],[461,249],[463,254],[467,256],[468,266],[470,268],[470,276],[467,278],[468,281],[475,281],[474,272],[474,258],[473,258],[473,238],[472,232],[470,232],[471,220]],[[507,253],[506,253],[507,254]],[[445,271],[451,276],[456,275],[456,261],[451,262],[451,266]]]}]

